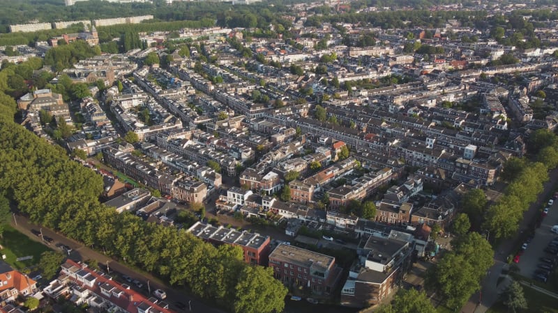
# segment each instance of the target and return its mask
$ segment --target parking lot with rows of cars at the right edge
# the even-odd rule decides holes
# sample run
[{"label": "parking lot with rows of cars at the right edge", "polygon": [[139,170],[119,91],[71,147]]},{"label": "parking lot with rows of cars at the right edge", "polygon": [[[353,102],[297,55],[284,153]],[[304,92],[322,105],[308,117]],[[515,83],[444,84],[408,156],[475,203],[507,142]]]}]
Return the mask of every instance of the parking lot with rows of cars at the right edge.
[{"label": "parking lot with rows of cars at the right edge", "polygon": [[553,225],[558,225],[558,204],[555,202],[550,207],[548,215],[543,219],[541,227],[538,227],[535,231],[535,236],[528,244],[525,252],[520,256],[520,262],[518,266],[520,268],[521,275],[526,278],[533,278],[534,272],[537,269],[538,264],[541,264],[541,257],[556,257],[556,255],[549,255],[544,251],[548,243],[558,237],[558,234],[550,232],[550,228]]}]

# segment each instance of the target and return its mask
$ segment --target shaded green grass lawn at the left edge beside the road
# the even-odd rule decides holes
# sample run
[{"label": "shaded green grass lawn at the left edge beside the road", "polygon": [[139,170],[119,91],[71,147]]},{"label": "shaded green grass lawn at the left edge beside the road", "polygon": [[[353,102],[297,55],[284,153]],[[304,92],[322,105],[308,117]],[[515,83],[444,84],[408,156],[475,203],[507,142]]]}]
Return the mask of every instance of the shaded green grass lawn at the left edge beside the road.
[{"label": "shaded green grass lawn at the left edge beside the road", "polygon": [[[6,229],[2,234],[0,243],[3,247],[3,249],[0,250],[0,253],[2,255],[6,255],[6,259],[4,261],[20,270],[33,264],[37,264],[40,259],[40,254],[45,251],[50,251],[47,246],[29,239],[28,236],[18,232],[9,225],[6,225]],[[15,260],[18,257],[27,257],[28,255],[33,255],[33,259],[25,261]]]}]

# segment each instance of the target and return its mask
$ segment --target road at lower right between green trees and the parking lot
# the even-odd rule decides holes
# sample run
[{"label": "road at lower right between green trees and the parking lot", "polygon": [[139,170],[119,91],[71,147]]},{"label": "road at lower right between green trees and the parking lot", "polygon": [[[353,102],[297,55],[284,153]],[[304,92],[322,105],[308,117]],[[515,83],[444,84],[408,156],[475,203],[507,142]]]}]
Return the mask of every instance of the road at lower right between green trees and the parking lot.
[{"label": "road at lower right between green trees and the parking lot", "polygon": [[[538,194],[536,202],[529,206],[529,209],[523,214],[523,219],[520,222],[518,235],[511,239],[506,239],[502,241],[500,246],[495,251],[494,261],[495,264],[488,271],[488,276],[483,280],[481,291],[477,292],[462,308],[461,312],[474,312],[474,313],[485,313],[489,307],[494,305],[499,295],[498,293],[505,289],[504,284],[497,285],[498,278],[502,269],[506,264],[506,258],[511,253],[515,252],[518,245],[520,244],[520,238],[522,236],[521,232],[531,229],[531,225],[534,223],[535,219],[540,214],[539,209],[543,203],[546,203],[548,199],[552,196],[552,192],[558,182],[558,168],[550,171],[548,174],[548,182],[544,184],[543,192]],[[558,208],[555,208],[558,209]],[[544,223],[549,223],[546,219]],[[541,225],[542,227],[546,227]],[[547,227],[548,228],[548,227]]]}]

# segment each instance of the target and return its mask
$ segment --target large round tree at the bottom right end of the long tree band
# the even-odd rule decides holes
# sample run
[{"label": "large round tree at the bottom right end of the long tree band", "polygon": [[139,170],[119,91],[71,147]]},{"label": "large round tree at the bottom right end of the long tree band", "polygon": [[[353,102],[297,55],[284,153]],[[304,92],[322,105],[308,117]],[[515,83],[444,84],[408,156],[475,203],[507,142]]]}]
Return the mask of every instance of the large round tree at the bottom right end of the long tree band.
[{"label": "large round tree at the bottom right end of the long tree band", "polygon": [[273,266],[246,266],[239,273],[234,299],[235,313],[282,312],[287,287],[273,278]]}]

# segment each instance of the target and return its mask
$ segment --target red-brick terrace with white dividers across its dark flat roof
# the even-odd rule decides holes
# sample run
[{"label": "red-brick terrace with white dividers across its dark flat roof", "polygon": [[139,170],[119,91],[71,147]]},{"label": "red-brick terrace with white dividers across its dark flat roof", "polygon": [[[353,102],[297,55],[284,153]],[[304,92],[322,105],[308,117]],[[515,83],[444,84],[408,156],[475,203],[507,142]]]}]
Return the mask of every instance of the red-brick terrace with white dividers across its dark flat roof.
[{"label": "red-brick terrace with white dividers across its dark flat roof", "polygon": [[201,222],[196,222],[188,228],[188,232],[209,243],[240,247],[244,262],[248,264],[262,266],[268,264],[271,243],[269,236],[262,236],[246,230],[239,232],[223,226],[215,227]]}]

